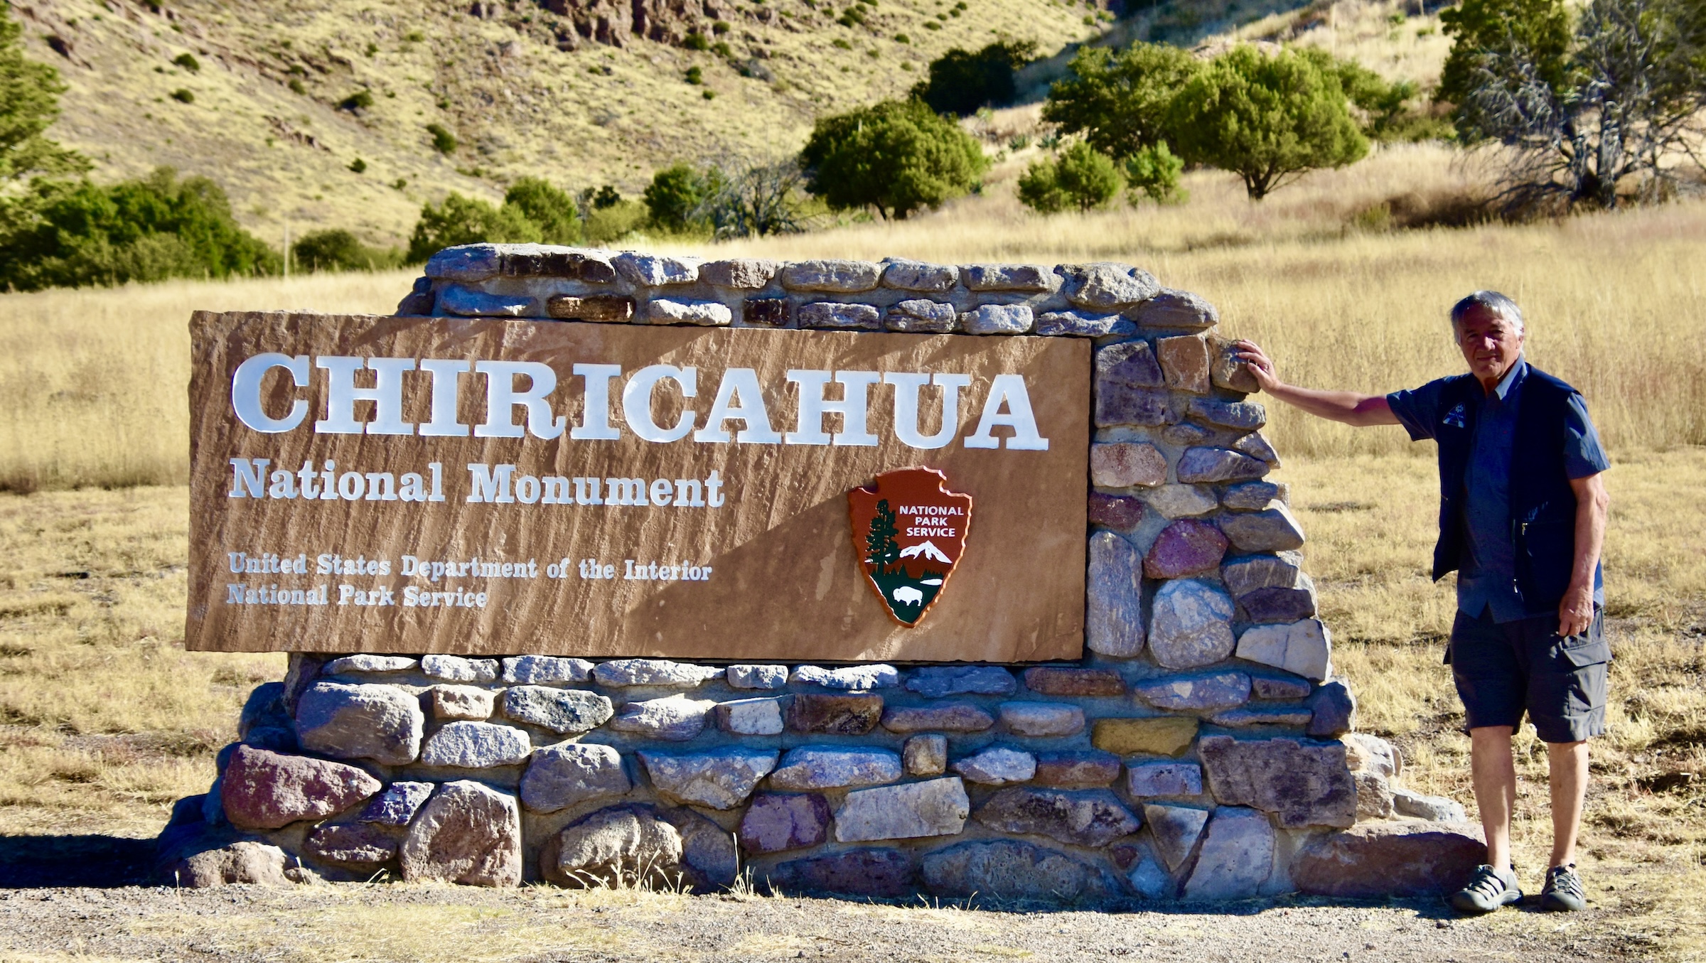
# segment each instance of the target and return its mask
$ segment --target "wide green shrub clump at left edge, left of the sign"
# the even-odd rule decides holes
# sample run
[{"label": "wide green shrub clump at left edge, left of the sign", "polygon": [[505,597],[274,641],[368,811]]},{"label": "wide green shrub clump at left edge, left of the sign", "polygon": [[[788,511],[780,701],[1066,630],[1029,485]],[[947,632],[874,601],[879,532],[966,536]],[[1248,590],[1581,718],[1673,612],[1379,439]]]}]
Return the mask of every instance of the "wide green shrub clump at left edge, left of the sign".
[{"label": "wide green shrub clump at left edge, left of the sign", "polygon": [[179,181],[169,167],[116,184],[36,181],[7,213],[0,290],[271,274],[280,266],[237,225],[218,184]]}]

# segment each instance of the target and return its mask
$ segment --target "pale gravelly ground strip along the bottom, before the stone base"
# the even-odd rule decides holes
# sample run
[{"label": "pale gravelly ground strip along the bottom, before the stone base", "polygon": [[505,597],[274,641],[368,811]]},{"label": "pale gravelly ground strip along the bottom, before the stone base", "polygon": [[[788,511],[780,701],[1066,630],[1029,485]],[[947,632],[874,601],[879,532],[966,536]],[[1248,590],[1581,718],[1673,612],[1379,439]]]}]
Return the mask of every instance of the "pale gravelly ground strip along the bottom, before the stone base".
[{"label": "pale gravelly ground strip along the bottom, before the stone base", "polygon": [[[1440,900],[1249,900],[1155,912],[1001,912],[546,886],[138,886],[150,840],[0,842],[0,961],[58,960],[1645,960],[1616,900],[1455,919]],[[82,883],[65,886],[63,883]],[[1616,890],[1612,890],[1616,893]],[[1610,924],[1610,926],[1605,926]]]}]

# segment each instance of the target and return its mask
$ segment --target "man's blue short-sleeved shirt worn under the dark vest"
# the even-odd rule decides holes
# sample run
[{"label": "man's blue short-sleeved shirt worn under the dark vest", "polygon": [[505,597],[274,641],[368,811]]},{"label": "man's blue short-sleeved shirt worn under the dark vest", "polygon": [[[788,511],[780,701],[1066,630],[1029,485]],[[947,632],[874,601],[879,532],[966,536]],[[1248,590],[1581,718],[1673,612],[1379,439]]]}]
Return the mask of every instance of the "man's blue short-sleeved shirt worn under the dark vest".
[{"label": "man's blue short-sleeved shirt worn under the dark vest", "polygon": [[[1469,547],[1457,571],[1457,608],[1479,617],[1493,608],[1494,622],[1515,622],[1529,612],[1517,593],[1517,547],[1510,539],[1510,458],[1517,436],[1517,409],[1529,361],[1517,358],[1505,378],[1488,392],[1471,440],[1469,470],[1464,476],[1464,533]],[[1440,411],[1445,378],[1414,390],[1392,392],[1387,404],[1413,441],[1435,438],[1442,426],[1462,426],[1467,412]],[[1571,479],[1595,476],[1610,467],[1599,431],[1581,395],[1570,395],[1564,416],[1564,472]],[[1597,581],[1597,580],[1595,580]],[[1593,602],[1605,603],[1605,590],[1593,588]]]}]

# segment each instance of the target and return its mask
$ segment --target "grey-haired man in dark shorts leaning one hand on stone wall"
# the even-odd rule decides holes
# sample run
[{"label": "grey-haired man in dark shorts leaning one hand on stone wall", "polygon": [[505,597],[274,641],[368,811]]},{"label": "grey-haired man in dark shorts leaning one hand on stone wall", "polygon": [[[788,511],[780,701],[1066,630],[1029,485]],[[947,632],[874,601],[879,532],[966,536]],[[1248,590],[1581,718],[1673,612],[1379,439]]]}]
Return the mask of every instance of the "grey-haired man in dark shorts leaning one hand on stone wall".
[{"label": "grey-haired man in dark shorts leaning one hand on stone wall", "polygon": [[1552,857],[1541,908],[1578,910],[1576,832],[1588,784],[1587,740],[1605,731],[1605,597],[1600,544],[1610,467],[1581,394],[1522,356],[1522,310],[1496,291],[1452,309],[1467,375],[1389,395],[1288,385],[1239,343],[1262,390],[1344,424],[1402,424],[1440,448],[1440,540],[1433,578],[1457,571],[1445,661],[1464,702],[1488,862],[1452,897],[1459,912],[1522,900],[1510,862],[1517,804],[1512,736],[1527,712],[1546,741]]}]

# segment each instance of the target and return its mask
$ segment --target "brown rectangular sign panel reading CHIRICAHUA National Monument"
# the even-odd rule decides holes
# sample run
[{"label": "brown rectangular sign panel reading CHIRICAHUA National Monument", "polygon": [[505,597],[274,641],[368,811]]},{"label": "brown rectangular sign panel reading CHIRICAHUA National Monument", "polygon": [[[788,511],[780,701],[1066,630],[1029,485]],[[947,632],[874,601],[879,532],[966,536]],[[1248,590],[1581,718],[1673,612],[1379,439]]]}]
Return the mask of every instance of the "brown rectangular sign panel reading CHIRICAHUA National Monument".
[{"label": "brown rectangular sign panel reading CHIRICAHUA National Monument", "polygon": [[[191,339],[189,649],[1082,651],[1085,341],[205,312]],[[896,610],[848,522],[902,469],[940,486],[891,503]]]}]

